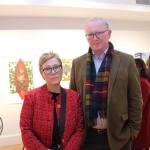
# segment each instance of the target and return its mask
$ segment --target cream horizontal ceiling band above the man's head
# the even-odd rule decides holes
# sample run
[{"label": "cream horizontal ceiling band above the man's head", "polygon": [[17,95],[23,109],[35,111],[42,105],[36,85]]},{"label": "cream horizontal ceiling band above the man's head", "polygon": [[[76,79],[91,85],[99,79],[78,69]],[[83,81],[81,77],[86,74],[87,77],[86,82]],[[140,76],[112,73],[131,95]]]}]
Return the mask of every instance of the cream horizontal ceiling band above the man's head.
[{"label": "cream horizontal ceiling band above the man's head", "polygon": [[37,5],[0,5],[0,17],[67,17],[90,18],[102,16],[105,19],[150,22],[150,7],[65,7]]}]

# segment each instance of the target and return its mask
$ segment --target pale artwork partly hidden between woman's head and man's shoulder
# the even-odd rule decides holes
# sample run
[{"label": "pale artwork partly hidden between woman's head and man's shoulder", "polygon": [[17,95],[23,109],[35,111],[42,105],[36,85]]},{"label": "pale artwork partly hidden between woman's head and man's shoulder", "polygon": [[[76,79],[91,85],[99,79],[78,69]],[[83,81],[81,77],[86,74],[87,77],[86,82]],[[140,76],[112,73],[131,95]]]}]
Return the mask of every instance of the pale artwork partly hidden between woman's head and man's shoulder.
[{"label": "pale artwork partly hidden between woman's head and man's shoulder", "polygon": [[70,71],[71,71],[71,67],[72,67],[72,60],[73,59],[62,59],[62,65],[63,65],[62,81],[70,80]]}]

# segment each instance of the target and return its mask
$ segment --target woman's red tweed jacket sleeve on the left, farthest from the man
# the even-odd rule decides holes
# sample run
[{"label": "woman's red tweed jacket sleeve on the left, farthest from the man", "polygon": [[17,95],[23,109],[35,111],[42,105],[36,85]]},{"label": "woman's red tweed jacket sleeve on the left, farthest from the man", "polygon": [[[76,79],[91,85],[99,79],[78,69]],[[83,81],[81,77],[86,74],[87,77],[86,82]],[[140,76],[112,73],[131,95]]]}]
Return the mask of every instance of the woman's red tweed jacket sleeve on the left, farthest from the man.
[{"label": "woman's red tweed jacket sleeve on the left, farthest from the man", "polygon": [[47,150],[47,148],[38,140],[33,131],[34,103],[31,95],[25,95],[21,115],[20,129],[24,147],[27,150]]}]

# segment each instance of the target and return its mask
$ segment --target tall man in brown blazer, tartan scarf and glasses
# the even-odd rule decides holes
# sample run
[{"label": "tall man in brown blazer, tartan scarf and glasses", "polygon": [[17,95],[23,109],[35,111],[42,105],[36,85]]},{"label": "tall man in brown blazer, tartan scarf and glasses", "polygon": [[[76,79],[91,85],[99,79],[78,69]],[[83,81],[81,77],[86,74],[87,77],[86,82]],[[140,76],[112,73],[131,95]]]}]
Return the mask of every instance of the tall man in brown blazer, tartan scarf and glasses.
[{"label": "tall man in brown blazer, tartan scarf and glasses", "polygon": [[114,50],[102,18],[86,22],[89,51],[72,62],[70,89],[80,93],[86,124],[81,150],[130,150],[142,117],[139,75],[131,55]]}]

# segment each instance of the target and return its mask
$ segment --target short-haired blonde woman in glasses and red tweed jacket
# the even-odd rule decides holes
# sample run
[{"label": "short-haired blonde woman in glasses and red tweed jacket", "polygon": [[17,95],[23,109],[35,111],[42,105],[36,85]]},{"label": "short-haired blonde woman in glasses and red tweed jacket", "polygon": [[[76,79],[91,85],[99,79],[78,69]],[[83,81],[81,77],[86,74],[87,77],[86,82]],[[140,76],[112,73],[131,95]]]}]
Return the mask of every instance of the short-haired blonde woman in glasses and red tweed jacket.
[{"label": "short-haired blonde woman in glasses and red tweed jacket", "polygon": [[61,113],[66,113],[65,127],[60,136],[62,61],[56,53],[44,53],[39,59],[39,70],[46,84],[25,95],[20,116],[24,149],[79,150],[84,136],[80,96],[65,89],[66,111]]}]

